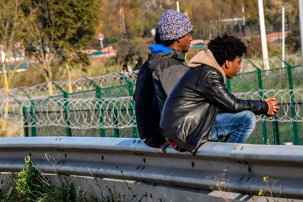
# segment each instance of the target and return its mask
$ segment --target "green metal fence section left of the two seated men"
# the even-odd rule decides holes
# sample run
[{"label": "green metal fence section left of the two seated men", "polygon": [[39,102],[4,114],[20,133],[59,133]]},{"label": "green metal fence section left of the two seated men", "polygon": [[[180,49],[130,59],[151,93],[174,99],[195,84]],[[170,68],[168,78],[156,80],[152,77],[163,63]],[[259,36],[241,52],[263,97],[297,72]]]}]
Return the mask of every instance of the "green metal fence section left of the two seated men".
[{"label": "green metal fence section left of the two seated men", "polygon": [[[61,92],[61,95],[48,96],[41,99],[31,98],[30,106],[23,107],[24,136],[95,136],[95,137],[135,137],[138,138],[138,130],[135,121],[134,100],[131,98],[130,104],[123,102],[109,102],[113,97],[132,97],[135,84],[125,80],[126,84],[100,88],[93,81],[86,78],[95,89],[67,93],[56,83],[53,83]],[[84,100],[95,101],[85,102]],[[77,102],[79,99],[79,102]],[[70,103],[72,100],[72,103]],[[92,99],[94,100],[94,99]],[[21,102],[18,102],[21,104]],[[47,106],[44,108],[43,106]],[[58,110],[60,109],[60,110]],[[63,109],[63,110],[62,110]],[[125,116],[130,116],[133,122],[132,127],[119,126],[120,120],[125,120]],[[99,117],[97,127],[89,127],[93,118]],[[43,124],[36,127],[39,121],[47,119],[49,125]],[[109,121],[110,119],[110,121]],[[49,121],[50,120],[50,121]],[[61,122],[61,123],[58,123]],[[88,122],[85,128],[71,125],[71,123]],[[106,122],[113,122],[114,125],[106,127]],[[54,123],[54,124],[51,124]],[[79,124],[81,125],[81,124]],[[31,129],[31,130],[30,130]]]}]

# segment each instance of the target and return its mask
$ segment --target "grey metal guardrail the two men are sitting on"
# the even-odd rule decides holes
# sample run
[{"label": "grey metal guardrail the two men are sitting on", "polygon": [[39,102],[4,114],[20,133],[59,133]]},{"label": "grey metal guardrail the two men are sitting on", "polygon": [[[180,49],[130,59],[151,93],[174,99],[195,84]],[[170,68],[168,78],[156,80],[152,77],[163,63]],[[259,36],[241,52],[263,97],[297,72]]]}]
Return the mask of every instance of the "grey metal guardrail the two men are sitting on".
[{"label": "grey metal guardrail the two men are sitting on", "polygon": [[[18,137],[0,139],[0,172],[19,172],[24,158],[44,173],[94,176],[303,199],[303,146],[207,142],[196,155],[147,147],[135,138]],[[53,164],[46,157],[54,158]],[[263,177],[275,182],[268,190]],[[268,179],[268,178],[267,178]]]}]

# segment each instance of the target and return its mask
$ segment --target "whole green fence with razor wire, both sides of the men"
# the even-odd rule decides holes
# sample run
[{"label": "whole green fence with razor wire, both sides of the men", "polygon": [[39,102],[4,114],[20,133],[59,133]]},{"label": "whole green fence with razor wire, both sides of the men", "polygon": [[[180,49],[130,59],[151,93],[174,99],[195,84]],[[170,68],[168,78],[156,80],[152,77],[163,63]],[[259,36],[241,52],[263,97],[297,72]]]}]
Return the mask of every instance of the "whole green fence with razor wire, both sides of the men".
[{"label": "whole green fence with razor wire, both sides of the men", "polygon": [[[262,60],[242,62],[243,71],[227,80],[228,89],[241,99],[275,97],[280,111],[274,117],[257,117],[248,143],[303,144],[302,62],[299,55],[270,58],[270,70],[261,70]],[[284,67],[283,67],[284,66]],[[124,78],[115,72],[70,83],[46,83],[19,87],[0,99],[0,115],[20,124],[26,136],[138,137],[133,93],[138,71]],[[9,110],[7,111],[7,106]]]}]

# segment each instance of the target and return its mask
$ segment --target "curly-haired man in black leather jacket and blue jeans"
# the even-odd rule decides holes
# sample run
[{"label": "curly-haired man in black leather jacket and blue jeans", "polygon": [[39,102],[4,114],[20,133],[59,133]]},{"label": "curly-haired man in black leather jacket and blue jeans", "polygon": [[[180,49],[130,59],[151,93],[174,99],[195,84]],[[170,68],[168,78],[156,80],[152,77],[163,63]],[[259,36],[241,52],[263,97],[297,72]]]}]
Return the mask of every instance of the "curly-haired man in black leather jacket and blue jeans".
[{"label": "curly-haired man in black leather jacket and blue jeans", "polygon": [[195,155],[206,141],[245,143],[255,129],[256,115],[275,115],[275,98],[237,99],[225,87],[241,68],[247,52],[243,41],[224,34],[210,40],[208,49],[188,63],[190,69],[168,96],[160,120],[160,134],[176,150]]}]

